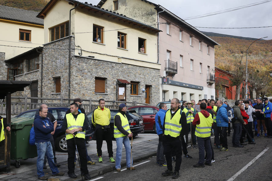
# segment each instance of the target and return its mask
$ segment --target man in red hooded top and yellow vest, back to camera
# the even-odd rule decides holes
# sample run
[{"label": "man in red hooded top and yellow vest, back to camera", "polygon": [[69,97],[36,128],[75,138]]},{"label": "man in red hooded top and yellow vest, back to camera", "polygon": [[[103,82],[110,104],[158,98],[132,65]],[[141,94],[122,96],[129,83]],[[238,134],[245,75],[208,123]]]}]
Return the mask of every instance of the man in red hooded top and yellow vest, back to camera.
[{"label": "man in red hooded top and yellow vest, back to camera", "polygon": [[[200,112],[196,114],[193,125],[196,126],[196,139],[199,149],[199,161],[194,167],[205,167],[205,165],[212,165],[212,149],[211,149],[211,129],[212,129],[212,115],[206,111],[206,103],[200,104]],[[207,153],[206,162],[204,163],[205,151]],[[205,165],[204,165],[205,164]]]}]

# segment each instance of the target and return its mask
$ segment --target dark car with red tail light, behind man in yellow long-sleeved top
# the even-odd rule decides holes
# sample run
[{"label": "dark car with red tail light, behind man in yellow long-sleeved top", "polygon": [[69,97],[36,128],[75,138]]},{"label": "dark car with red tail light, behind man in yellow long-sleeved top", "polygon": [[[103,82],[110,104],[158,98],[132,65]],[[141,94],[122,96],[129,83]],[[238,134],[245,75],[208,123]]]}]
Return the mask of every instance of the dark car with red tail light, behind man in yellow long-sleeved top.
[{"label": "dark car with red tail light, behind man in yellow long-sleeved top", "polygon": [[[113,137],[114,116],[118,113],[118,110],[110,109],[110,111],[111,111],[110,128],[112,130],[112,137]],[[91,122],[92,122],[92,113],[93,111],[87,114],[87,117]],[[128,124],[130,127],[130,131],[133,134],[133,137],[144,132],[144,123],[143,123],[142,116],[138,115],[134,110],[127,110],[125,115],[128,118]],[[94,128],[93,125],[92,127]]]}]

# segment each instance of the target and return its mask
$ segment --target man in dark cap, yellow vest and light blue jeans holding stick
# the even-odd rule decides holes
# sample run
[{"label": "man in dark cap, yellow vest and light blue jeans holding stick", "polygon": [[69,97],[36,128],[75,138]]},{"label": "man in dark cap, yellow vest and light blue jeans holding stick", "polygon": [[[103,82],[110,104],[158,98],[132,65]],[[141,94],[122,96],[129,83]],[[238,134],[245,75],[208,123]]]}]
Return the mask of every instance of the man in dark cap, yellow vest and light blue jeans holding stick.
[{"label": "man in dark cap, yellow vest and light blue jeans holding stick", "polygon": [[126,163],[127,170],[135,170],[132,166],[133,160],[131,158],[131,147],[129,138],[132,137],[130,127],[128,124],[128,118],[126,117],[127,106],[124,103],[119,105],[118,113],[114,116],[114,138],[116,140],[116,163],[115,168],[117,172],[121,172],[121,157],[123,144],[126,149]]}]

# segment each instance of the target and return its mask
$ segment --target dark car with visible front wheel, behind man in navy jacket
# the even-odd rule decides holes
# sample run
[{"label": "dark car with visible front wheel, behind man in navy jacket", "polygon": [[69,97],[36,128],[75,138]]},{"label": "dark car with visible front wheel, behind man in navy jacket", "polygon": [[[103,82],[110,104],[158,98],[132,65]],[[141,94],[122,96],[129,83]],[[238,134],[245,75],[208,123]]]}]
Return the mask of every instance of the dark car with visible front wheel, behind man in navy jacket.
[{"label": "dark car with visible front wheel, behind man in navy jacket", "polygon": [[[48,112],[52,113],[53,116],[57,119],[57,128],[55,130],[55,134],[53,135],[53,138],[55,141],[55,148],[61,152],[67,152],[66,136],[65,136],[65,132],[63,132],[61,130],[61,125],[62,125],[63,118],[65,116],[65,113],[68,109],[69,109],[68,107],[48,107]],[[24,111],[24,112],[18,114],[15,117],[34,118],[37,110],[39,110],[39,109],[27,110],[27,111]],[[15,119],[15,118],[13,118],[13,119]],[[89,121],[89,123],[90,123],[90,121]],[[89,128],[86,130],[86,134],[85,134],[86,143],[88,141],[92,140],[93,134],[94,134],[94,130],[92,129],[91,126],[89,126]]]}]

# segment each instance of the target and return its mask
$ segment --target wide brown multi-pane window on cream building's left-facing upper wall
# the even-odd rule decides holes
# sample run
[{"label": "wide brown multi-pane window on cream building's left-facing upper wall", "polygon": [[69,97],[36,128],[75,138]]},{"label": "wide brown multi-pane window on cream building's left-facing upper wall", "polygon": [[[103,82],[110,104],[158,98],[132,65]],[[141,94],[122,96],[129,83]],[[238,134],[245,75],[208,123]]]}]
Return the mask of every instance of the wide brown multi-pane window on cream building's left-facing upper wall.
[{"label": "wide brown multi-pane window on cream building's left-facing upper wall", "polygon": [[63,37],[69,36],[69,21],[59,24],[55,27],[49,28],[50,41],[58,40]]}]

